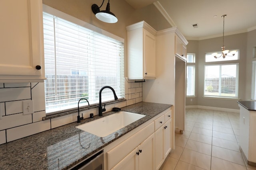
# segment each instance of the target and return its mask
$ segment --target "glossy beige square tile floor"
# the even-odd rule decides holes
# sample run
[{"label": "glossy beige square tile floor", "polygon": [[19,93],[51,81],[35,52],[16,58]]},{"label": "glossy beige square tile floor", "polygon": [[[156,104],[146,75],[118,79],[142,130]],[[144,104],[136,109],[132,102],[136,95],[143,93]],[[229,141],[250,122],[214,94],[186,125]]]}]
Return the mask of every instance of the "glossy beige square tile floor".
[{"label": "glossy beige square tile floor", "polygon": [[186,109],[186,131],[160,170],[256,170],[239,150],[239,113]]}]

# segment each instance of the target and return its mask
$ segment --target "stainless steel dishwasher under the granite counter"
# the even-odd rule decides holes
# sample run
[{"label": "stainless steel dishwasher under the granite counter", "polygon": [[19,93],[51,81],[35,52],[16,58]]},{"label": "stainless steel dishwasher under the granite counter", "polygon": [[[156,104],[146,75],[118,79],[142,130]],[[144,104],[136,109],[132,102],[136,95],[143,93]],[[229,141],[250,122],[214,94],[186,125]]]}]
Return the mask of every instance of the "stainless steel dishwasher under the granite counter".
[{"label": "stainless steel dishwasher under the granite counter", "polygon": [[104,151],[101,150],[90,158],[83,160],[70,170],[104,170]]}]

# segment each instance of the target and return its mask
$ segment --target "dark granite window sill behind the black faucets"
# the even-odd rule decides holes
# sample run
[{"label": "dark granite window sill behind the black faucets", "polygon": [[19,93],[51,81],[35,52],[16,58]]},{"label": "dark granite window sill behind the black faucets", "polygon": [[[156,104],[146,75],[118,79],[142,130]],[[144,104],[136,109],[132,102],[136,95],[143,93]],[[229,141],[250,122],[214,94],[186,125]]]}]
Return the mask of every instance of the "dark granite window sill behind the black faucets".
[{"label": "dark granite window sill behind the black faucets", "polygon": [[[102,102],[102,105],[104,106],[104,104],[106,105],[110,105],[110,104],[115,104],[115,103],[119,103],[119,102],[123,102],[123,101],[126,101],[125,98],[120,98],[118,100],[110,100],[110,101],[107,101],[107,102]],[[97,108],[99,107],[99,104],[92,104],[90,105],[90,107],[83,107],[80,109],[80,111],[84,111],[84,110],[90,110],[90,109],[94,109],[94,108]],[[65,115],[69,115],[69,114],[73,114],[73,113],[77,113],[78,111],[78,108],[73,108],[73,109],[68,109],[68,110],[63,110],[63,111],[57,111],[57,112],[54,112],[54,113],[48,113],[46,114],[45,117],[42,117],[42,120],[48,120],[48,119],[52,119],[52,118],[55,118],[55,117],[61,117],[61,116],[65,116]]]}]

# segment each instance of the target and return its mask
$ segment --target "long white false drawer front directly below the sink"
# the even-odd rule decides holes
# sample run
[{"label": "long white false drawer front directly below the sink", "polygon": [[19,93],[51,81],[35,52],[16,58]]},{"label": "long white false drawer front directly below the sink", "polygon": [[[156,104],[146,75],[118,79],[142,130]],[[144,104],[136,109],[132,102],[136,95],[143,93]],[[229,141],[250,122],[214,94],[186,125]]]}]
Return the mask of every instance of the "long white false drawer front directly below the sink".
[{"label": "long white false drawer front directly below the sink", "polygon": [[128,155],[134,148],[136,148],[142,141],[147,139],[154,133],[154,122],[138,131],[126,141],[120,143],[114,149],[106,152],[106,160],[108,170],[113,168],[120,162],[126,155]]}]

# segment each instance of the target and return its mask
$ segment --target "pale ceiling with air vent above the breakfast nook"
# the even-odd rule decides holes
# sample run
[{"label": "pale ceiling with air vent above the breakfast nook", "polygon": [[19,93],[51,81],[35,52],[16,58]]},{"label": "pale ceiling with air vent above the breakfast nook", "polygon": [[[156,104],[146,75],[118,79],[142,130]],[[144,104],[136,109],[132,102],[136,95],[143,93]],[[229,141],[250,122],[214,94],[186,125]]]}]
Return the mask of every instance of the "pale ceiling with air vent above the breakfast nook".
[{"label": "pale ceiling with air vent above the breakfast nook", "polygon": [[[133,8],[154,4],[186,39],[208,39],[256,29],[256,0],[126,0]],[[192,25],[197,23],[198,27]]]}]

